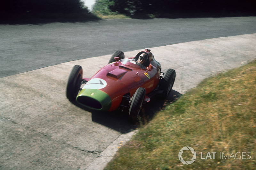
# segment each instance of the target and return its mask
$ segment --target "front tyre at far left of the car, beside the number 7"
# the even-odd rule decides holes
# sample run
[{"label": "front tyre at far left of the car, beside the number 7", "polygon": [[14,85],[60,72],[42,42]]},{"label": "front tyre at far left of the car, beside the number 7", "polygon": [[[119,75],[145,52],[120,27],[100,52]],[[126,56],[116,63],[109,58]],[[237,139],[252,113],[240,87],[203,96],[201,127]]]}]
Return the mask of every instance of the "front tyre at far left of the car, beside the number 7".
[{"label": "front tyre at far left of the car, beside the number 7", "polygon": [[71,70],[68,77],[68,84],[66,88],[66,96],[68,100],[76,100],[76,96],[80,90],[81,82],[83,78],[83,69],[80,65],[75,65]]}]

